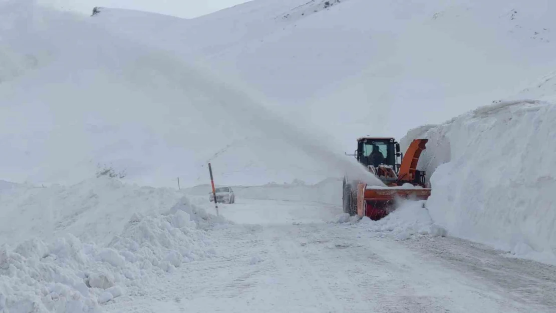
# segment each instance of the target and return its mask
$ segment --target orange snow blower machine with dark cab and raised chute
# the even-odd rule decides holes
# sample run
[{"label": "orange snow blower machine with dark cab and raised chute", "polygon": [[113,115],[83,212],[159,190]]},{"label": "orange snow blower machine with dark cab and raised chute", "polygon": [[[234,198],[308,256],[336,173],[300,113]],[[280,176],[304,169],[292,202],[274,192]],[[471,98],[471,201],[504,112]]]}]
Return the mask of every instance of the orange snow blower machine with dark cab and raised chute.
[{"label": "orange snow blower machine with dark cab and raised chute", "polygon": [[357,150],[350,156],[355,156],[384,186],[368,186],[344,177],[344,213],[376,221],[394,211],[400,199],[427,200],[431,189],[425,185],[425,172],[416,169],[427,141],[414,140],[403,154],[394,138],[359,138]]}]

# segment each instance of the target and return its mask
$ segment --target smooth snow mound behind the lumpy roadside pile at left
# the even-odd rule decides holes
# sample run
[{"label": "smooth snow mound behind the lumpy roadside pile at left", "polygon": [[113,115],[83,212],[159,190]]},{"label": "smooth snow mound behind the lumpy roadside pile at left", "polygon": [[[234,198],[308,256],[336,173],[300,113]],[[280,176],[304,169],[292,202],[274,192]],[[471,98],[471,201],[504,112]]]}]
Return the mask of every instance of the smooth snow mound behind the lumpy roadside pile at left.
[{"label": "smooth snow mound behind the lumpy roadside pile at left", "polygon": [[171,188],[141,187],[108,177],[71,186],[8,186],[0,188],[0,244],[33,237],[51,242],[67,232],[84,242],[107,244],[133,213],[161,213],[183,197]]}]

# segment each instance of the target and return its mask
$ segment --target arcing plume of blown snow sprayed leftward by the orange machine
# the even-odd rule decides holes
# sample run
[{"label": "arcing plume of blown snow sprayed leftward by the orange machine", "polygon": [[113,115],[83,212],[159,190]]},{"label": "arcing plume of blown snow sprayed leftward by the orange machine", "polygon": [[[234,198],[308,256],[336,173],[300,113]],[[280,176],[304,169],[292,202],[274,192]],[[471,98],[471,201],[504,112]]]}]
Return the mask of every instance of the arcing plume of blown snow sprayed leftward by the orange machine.
[{"label": "arcing plume of blown snow sprayed leftward by the orange machine", "polygon": [[[330,147],[331,138],[311,133],[306,127],[294,125],[291,120],[270,110],[264,105],[262,95],[242,85],[236,77],[226,79],[223,73],[215,73],[214,68],[201,66],[198,62],[192,66],[161,51],[140,57],[136,62],[141,66],[126,72],[129,81],[139,84],[142,92],[156,93],[151,96],[166,103],[168,115],[186,115],[183,110],[190,107],[192,110],[187,114],[200,113],[209,125],[214,124],[212,131],[221,132],[216,136],[233,138],[249,133],[259,137],[261,144],[272,142],[275,150],[280,144],[284,150],[304,152],[327,171],[347,174],[368,185],[384,186],[358,162]],[[162,98],[158,97],[160,95]],[[214,119],[219,122],[212,123]],[[257,148],[251,150],[257,152]],[[287,157],[287,153],[281,155]]]}]

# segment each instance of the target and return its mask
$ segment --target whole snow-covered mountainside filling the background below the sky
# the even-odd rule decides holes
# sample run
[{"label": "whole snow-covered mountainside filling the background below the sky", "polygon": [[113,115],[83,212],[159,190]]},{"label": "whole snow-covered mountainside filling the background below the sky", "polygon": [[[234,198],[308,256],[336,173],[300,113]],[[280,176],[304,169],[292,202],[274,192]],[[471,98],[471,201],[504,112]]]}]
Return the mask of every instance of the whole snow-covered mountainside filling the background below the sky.
[{"label": "whole snow-covered mountainside filling the background below the sky", "polygon": [[399,137],[554,68],[549,1],[328,3],[185,20],[4,0],[0,176],[75,183],[108,164],[196,185],[211,160],[219,183],[317,182],[351,166],[339,153],[359,135]]}]

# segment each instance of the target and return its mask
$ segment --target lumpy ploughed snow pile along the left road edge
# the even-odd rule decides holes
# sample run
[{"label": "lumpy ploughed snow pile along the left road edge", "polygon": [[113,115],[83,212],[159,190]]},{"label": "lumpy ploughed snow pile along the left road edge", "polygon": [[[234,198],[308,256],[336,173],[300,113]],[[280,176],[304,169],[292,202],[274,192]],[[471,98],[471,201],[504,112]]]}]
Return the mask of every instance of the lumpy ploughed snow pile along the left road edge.
[{"label": "lumpy ploughed snow pile along the left road edge", "polygon": [[181,201],[170,211],[134,214],[110,244],[68,234],[0,249],[0,312],[98,312],[122,294],[141,295],[157,276],[215,254],[199,222],[214,218]]}]

